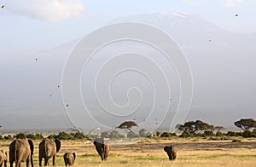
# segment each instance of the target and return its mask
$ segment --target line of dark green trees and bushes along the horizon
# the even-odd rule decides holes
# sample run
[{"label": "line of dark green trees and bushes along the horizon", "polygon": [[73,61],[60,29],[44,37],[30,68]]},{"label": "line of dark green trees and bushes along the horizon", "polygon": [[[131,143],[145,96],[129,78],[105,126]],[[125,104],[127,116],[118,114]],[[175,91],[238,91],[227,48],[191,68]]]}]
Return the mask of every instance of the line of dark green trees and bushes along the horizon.
[{"label": "line of dark green trees and bushes along the horizon", "polygon": [[[102,132],[102,137],[111,139],[123,139],[123,138],[169,138],[173,136],[179,137],[206,137],[206,136],[242,136],[242,137],[256,137],[256,121],[253,118],[241,118],[240,120],[234,122],[236,127],[240,128],[242,132],[237,131],[227,131],[223,126],[214,126],[212,124],[207,124],[201,120],[188,121],[184,124],[176,125],[176,132],[160,132],[157,131],[154,134],[148,132],[148,130],[141,129],[138,133],[132,130],[137,124],[134,121],[125,121],[119,124],[114,130]],[[125,130],[126,133],[120,134],[119,130]],[[179,132],[179,135],[177,135]],[[67,133],[60,132],[59,134],[49,135],[48,138],[54,138],[59,140],[81,140],[81,139],[94,139],[98,135],[87,134],[84,135],[82,132]],[[42,134],[26,134],[18,133],[16,135],[0,135],[0,140],[11,140],[14,138],[29,138],[32,140],[41,140],[44,138]]]}]

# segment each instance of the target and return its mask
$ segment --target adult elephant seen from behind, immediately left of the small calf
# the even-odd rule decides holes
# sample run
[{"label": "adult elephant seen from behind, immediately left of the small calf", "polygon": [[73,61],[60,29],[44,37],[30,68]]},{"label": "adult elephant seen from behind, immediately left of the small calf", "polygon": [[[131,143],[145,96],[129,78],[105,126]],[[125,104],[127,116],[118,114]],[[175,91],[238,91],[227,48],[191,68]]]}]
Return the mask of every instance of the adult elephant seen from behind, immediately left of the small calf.
[{"label": "adult elephant seen from behind, immediately left of the small calf", "polygon": [[55,139],[44,139],[39,143],[39,166],[42,166],[44,158],[44,166],[49,165],[49,158],[52,158],[52,164],[55,165],[55,156],[61,149],[61,141]]}]

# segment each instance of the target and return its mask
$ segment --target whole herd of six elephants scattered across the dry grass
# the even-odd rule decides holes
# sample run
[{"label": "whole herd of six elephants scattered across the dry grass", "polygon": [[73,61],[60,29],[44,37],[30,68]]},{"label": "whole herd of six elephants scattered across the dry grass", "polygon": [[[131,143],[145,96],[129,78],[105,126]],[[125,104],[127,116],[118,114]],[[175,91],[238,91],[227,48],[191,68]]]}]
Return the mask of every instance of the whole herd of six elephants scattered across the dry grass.
[{"label": "whole herd of six elephants scattered across the dry grass", "polygon": [[[96,147],[97,153],[102,158],[102,161],[106,161],[110,150],[109,141],[102,137],[97,137],[93,144]],[[55,165],[56,153],[61,149],[61,141],[58,139],[44,139],[39,143],[39,166],[42,166],[42,160],[44,158],[44,166],[49,165],[49,158],[52,158],[52,163]],[[176,158],[177,151],[173,146],[164,147],[170,160]],[[26,162],[26,167],[34,166],[33,155],[34,144],[29,139],[16,139],[9,144],[9,164],[10,167],[20,167],[21,162]],[[72,166],[76,159],[75,153],[65,153],[63,155],[64,164],[66,166]],[[3,150],[0,151],[0,167],[7,167],[8,154]]]}]

